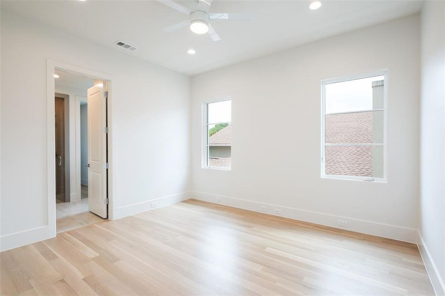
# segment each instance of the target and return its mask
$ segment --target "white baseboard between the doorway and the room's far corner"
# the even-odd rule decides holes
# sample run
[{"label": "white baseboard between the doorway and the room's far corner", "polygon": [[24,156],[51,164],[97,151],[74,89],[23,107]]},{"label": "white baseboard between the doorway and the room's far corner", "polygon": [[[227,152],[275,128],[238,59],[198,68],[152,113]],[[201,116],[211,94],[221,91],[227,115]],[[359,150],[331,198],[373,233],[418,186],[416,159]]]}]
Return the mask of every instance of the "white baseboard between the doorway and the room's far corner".
[{"label": "white baseboard between the doorway and the room's far corner", "polygon": [[[123,207],[118,207],[117,209],[114,210],[113,220],[116,220],[119,218],[124,218],[124,217],[131,216],[134,214],[139,214],[142,212],[153,210],[153,209],[156,209],[159,207],[164,207],[164,206],[171,205],[174,203],[178,203],[183,200],[187,200],[189,198],[190,198],[190,191],[186,191],[186,192],[163,196],[163,197],[159,197],[156,199],[147,200],[147,201],[143,201],[143,202],[139,202],[139,203],[123,206]],[[156,206],[151,207],[152,203],[156,203]]]}]

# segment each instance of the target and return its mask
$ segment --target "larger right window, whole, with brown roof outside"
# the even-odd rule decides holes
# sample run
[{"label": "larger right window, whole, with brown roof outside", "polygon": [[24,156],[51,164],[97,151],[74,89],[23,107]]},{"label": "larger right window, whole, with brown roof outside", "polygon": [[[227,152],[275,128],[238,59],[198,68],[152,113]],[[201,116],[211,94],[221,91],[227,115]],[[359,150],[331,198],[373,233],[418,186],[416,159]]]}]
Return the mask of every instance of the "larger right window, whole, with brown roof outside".
[{"label": "larger right window, whole, with brown roof outside", "polygon": [[381,72],[322,82],[322,177],[386,180],[386,85]]}]

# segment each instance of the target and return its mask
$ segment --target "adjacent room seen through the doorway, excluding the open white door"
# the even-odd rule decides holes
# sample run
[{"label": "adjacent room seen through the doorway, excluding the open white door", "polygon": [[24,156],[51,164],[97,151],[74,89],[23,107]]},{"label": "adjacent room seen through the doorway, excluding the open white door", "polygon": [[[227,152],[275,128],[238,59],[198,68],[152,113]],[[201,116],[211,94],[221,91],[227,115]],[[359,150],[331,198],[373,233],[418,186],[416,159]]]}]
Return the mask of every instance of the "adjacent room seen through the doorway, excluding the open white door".
[{"label": "adjacent room seen through the doorway, excluding the open white door", "polygon": [[[88,97],[89,90],[103,88],[103,82],[62,70],[56,70],[53,76],[58,233],[103,220],[89,209],[88,199]],[[91,180],[95,181],[94,178]]]}]

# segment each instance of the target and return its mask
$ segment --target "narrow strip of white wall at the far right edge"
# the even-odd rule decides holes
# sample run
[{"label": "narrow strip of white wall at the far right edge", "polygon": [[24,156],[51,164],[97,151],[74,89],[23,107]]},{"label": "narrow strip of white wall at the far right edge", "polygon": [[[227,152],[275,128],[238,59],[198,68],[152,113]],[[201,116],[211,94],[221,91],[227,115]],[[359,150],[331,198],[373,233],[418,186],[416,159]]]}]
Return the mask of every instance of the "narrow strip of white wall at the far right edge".
[{"label": "narrow strip of white wall at the far right edge", "polygon": [[445,295],[445,2],[426,1],[421,21],[420,251]]}]

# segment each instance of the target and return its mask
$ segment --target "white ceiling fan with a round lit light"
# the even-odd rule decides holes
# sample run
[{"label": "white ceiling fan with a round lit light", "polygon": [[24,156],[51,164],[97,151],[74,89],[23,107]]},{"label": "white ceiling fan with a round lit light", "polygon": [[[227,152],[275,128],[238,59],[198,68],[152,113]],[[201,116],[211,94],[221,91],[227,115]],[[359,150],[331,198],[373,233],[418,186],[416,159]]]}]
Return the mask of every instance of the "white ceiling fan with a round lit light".
[{"label": "white ceiling fan with a round lit light", "polygon": [[188,20],[179,22],[175,25],[164,28],[165,32],[173,32],[185,26],[190,26],[190,30],[196,34],[209,33],[213,41],[221,40],[218,34],[210,24],[210,20],[249,20],[251,17],[247,14],[240,13],[209,13],[212,0],[196,0],[196,7],[194,10],[190,10],[173,0],[157,0],[179,12],[182,12],[189,16]]}]

